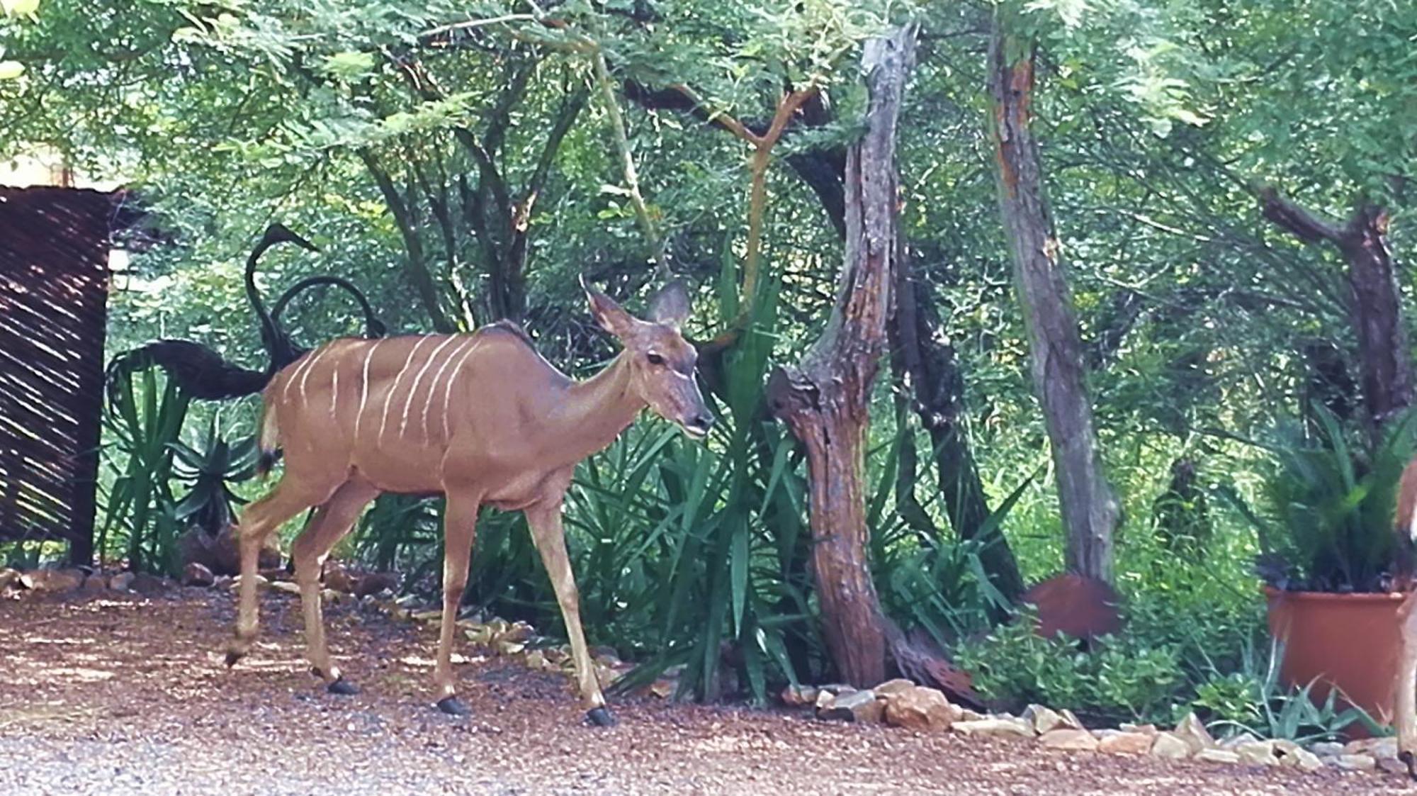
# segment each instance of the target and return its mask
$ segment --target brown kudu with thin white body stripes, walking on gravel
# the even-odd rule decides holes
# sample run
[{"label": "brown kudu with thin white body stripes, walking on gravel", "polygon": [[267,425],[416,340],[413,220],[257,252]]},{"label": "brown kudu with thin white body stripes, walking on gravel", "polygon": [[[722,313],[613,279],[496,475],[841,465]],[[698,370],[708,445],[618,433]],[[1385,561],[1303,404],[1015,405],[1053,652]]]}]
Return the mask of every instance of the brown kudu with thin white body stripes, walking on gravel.
[{"label": "brown kudu with thin white body stripes, walking on gravel", "polygon": [[276,448],[283,449],[285,472],[239,521],[241,595],[228,666],[256,636],[261,542],[279,524],[316,507],[292,548],[307,656],[329,691],[356,693],[324,643],[319,585],[324,557],[380,493],[441,493],[448,506],[434,670],[438,708],[468,712],[453,686],[455,619],[478,508],[495,506],[526,514],[565,620],[588,718],[614,722],[581,632],[561,501],[575,465],[614,442],[640,409],[649,406],[694,438],[708,432],[713,415],[694,381],[694,348],[679,333],[689,316],[680,282],[655,296],[650,322],[632,317],[598,290],[585,293],[595,320],[623,346],[587,381],[561,374],[506,323],[472,334],[334,340],[275,375],[264,394],[261,450],[273,457]]}]

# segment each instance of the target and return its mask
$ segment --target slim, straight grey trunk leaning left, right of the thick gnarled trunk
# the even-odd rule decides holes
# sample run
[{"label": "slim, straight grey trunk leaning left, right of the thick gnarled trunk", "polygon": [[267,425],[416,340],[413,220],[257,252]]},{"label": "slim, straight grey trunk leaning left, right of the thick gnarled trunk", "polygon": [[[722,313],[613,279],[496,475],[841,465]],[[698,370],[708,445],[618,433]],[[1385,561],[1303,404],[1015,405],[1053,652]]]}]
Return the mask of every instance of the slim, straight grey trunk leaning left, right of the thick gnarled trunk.
[{"label": "slim, straight grey trunk leaning left, right of the thick gnarled trunk", "polygon": [[1015,289],[1029,333],[1033,387],[1043,408],[1067,530],[1067,568],[1111,582],[1118,506],[1102,473],[1083,344],[1058,241],[1043,190],[1043,167],[1029,130],[1034,44],[1005,30],[995,14],[989,92],[999,177],[999,210],[1013,254]]}]

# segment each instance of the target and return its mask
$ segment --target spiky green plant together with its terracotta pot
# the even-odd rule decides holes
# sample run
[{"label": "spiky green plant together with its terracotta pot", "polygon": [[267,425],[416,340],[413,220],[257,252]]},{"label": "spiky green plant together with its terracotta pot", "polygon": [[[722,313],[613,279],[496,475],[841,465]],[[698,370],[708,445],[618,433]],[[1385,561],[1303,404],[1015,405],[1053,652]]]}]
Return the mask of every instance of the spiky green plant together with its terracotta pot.
[{"label": "spiky green plant together with its terracotta pot", "polygon": [[1288,429],[1268,446],[1271,520],[1247,511],[1260,538],[1270,632],[1284,650],[1281,678],[1314,684],[1321,701],[1336,690],[1379,724],[1391,722],[1396,697],[1404,542],[1394,510],[1413,455],[1411,421],[1404,414],[1376,442],[1357,440],[1318,406],[1312,428]]}]

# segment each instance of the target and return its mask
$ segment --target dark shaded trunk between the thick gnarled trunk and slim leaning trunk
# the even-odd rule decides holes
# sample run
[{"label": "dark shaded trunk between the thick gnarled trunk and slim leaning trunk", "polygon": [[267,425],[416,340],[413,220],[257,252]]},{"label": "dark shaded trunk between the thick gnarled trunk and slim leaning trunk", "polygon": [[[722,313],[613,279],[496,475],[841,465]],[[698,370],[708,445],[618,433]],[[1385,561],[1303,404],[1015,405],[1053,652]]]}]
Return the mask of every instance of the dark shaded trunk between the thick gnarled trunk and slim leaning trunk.
[{"label": "dark shaded trunk between the thick gnarled trunk and slim leaning trunk", "polygon": [[[1023,593],[1023,575],[1019,574],[1019,562],[1009,540],[998,527],[990,533],[985,525],[990,514],[989,501],[973,453],[959,428],[965,385],[955,351],[932,339],[939,319],[928,296],[917,289],[908,252],[900,252],[896,269],[896,313],[888,326],[891,365],[904,377],[908,392],[915,398],[915,415],[930,432],[939,496],[945,501],[949,527],[959,538],[981,542],[979,564],[993,586],[1012,601]],[[908,491],[915,482],[914,469],[911,445],[901,450],[903,477],[897,491],[905,494],[897,494],[897,504],[920,517],[924,510]]]}]

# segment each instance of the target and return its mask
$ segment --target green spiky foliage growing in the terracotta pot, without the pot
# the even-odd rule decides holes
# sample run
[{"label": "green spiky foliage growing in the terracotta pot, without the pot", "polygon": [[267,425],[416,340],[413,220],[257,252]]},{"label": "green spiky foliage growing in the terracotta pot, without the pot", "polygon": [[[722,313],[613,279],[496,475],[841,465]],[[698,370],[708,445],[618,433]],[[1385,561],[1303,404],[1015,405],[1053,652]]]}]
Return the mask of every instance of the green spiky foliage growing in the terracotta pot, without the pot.
[{"label": "green spiky foliage growing in the terracotta pot, without the pot", "polygon": [[1277,463],[1264,484],[1272,524],[1241,504],[1258,530],[1260,575],[1291,591],[1387,591],[1400,552],[1393,511],[1413,456],[1414,415],[1391,421],[1376,445],[1350,438],[1323,406],[1315,415],[1315,433],[1285,428],[1268,446]]}]

